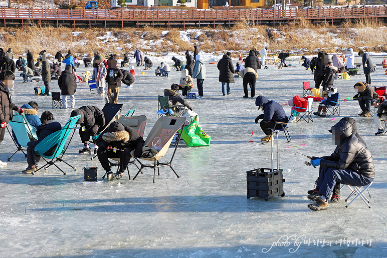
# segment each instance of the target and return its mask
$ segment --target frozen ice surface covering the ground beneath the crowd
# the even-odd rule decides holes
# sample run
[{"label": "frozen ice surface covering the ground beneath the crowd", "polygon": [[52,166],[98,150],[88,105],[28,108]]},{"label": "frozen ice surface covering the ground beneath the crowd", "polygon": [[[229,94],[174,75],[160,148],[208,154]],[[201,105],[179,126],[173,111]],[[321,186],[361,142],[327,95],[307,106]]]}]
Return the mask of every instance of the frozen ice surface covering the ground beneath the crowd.
[{"label": "frozen ice surface covering the ground beneath the crowd", "polygon": [[[169,57],[168,57],[169,58]],[[380,64],[380,58],[373,58]],[[169,62],[169,59],[165,60]],[[359,62],[359,60],[357,60]],[[234,65],[236,61],[233,62]],[[170,63],[172,64],[172,63]],[[279,70],[269,66],[258,71],[256,95],[264,95],[279,103],[296,94],[302,94],[302,82],[313,75],[300,63],[295,67]],[[81,65],[83,66],[83,65]],[[154,66],[157,63],[154,62]],[[103,175],[98,160],[90,155],[78,154],[82,148],[78,132],[65,160],[78,167],[72,171],[65,164],[58,165],[67,176],[50,167],[35,176],[20,171],[27,167],[26,158],[18,153],[9,165],[0,169],[0,255],[2,257],[382,257],[387,250],[386,192],[387,164],[384,157],[387,143],[385,136],[375,136],[377,131],[372,118],[357,116],[357,102],[342,102],[352,97],[353,84],[364,81],[361,76],[350,80],[335,81],[340,92],[340,116],[316,117],[314,122],[291,124],[291,143],[283,133],[279,135],[281,168],[284,169],[285,197],[275,197],[265,202],[259,198],[246,198],[246,171],[270,167],[270,145],[259,144],[263,133],[254,123],[261,111],[254,99],[243,99],[242,79],[231,85],[231,95],[223,96],[218,82],[216,64],[206,63],[204,98],[189,100],[199,114],[206,133],[212,136],[209,147],[187,148],[179,145],[173,166],[180,178],[168,168],[160,168],[152,183],[153,173],[145,169],[135,181],[125,174],[117,181],[83,185],[85,164],[98,166],[99,179]],[[91,70],[90,68],[87,70]],[[77,69],[79,74],[85,68]],[[140,75],[145,72],[145,75]],[[179,81],[180,73],[171,77],[155,77],[153,69],[136,68],[134,87],[120,89],[119,102],[124,103],[122,113],[137,108],[134,115],[146,115],[145,136],[157,120],[157,95]],[[386,75],[378,66],[371,74],[372,83],[385,86]],[[39,115],[44,110],[53,112],[62,125],[69,118],[71,109],[53,110],[51,98],[34,96],[33,87],[43,82],[22,84],[17,73],[14,102],[21,106],[30,100],[38,102]],[[58,92],[56,81],[51,91]],[[192,92],[197,93],[197,87]],[[87,84],[78,84],[76,107],[95,105],[100,108],[102,98],[91,95]],[[317,103],[314,105],[317,108]],[[284,106],[287,114],[288,106]],[[328,129],[341,117],[352,116],[359,134],[372,152],[376,178],[370,187],[368,209],[361,200],[345,208],[343,198],[331,204],[326,211],[314,212],[307,208],[310,201],[306,191],[314,188],[318,170],[304,165],[306,155],[327,155],[334,146]],[[335,119],[335,120],[332,120]],[[254,134],[252,134],[254,131]],[[254,142],[250,143],[249,140]],[[305,144],[304,146],[299,146]],[[290,148],[286,148],[290,147]],[[6,161],[15,150],[8,133],[0,148],[0,159]],[[162,161],[170,158],[172,149]],[[42,162],[40,163],[42,164]],[[43,164],[42,164],[43,165]],[[129,167],[133,177],[137,170]],[[342,197],[349,194],[343,188]],[[366,193],[367,195],[367,193]],[[294,239],[288,246],[274,246],[283,235],[311,239],[302,243],[295,253],[290,253]],[[350,238],[372,240],[371,247],[349,244],[336,245],[335,241]],[[283,241],[284,237],[281,238]],[[317,239],[332,241],[332,246],[313,245]]]}]

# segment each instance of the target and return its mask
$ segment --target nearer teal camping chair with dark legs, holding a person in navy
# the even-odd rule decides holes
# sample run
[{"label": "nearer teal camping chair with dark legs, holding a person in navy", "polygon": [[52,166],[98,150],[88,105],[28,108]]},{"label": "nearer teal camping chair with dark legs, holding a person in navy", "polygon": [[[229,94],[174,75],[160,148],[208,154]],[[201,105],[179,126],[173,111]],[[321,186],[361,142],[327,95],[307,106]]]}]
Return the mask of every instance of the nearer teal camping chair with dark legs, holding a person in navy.
[{"label": "nearer teal camping chair with dark legs, holding a person in navy", "polygon": [[[33,171],[33,175],[42,168],[47,170],[51,165],[56,166],[64,175],[66,175],[67,173],[60,169],[57,164],[55,164],[58,161],[64,162],[65,164],[73,168],[74,171],[77,170],[76,167],[73,167],[72,165],[63,160],[63,155],[65,155],[66,150],[69,147],[71,140],[73,139],[75,129],[77,128],[77,121],[80,117],[81,115],[70,117],[69,121],[61,130],[50,134],[49,136],[44,138],[40,143],[38,143],[38,145],[35,146],[35,153],[42,156],[43,160],[46,161],[46,165],[40,167],[36,171]],[[71,131],[73,131],[73,134],[71,135],[69,143],[67,144],[67,146],[65,146],[67,138],[69,138]],[[52,151],[54,151],[53,154],[51,154]],[[50,154],[47,154],[47,152],[49,152]],[[47,161],[46,159],[51,160]]]}]

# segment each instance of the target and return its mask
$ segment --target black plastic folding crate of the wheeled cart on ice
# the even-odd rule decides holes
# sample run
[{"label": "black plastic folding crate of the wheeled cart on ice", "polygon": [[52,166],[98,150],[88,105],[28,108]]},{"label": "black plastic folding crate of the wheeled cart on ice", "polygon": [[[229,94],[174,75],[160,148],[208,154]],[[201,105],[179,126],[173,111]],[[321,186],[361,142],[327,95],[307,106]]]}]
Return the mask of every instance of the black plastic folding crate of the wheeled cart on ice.
[{"label": "black plastic folding crate of the wheeled cart on ice", "polygon": [[247,198],[259,197],[268,201],[269,198],[280,195],[285,196],[283,191],[283,170],[270,168],[258,168],[249,170],[247,173]]}]

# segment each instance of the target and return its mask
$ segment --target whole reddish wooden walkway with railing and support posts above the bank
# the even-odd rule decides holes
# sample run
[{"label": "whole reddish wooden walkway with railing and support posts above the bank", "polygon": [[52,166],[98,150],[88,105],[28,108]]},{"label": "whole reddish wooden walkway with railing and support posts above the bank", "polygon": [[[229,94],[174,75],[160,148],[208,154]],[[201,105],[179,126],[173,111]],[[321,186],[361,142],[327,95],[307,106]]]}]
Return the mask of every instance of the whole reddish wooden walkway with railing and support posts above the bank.
[{"label": "whole reddish wooden walkway with railing and support posts above the bank", "polygon": [[35,22],[50,25],[88,26],[119,26],[139,25],[139,23],[175,24],[184,26],[187,23],[235,23],[248,21],[251,23],[290,22],[307,19],[312,22],[343,21],[346,19],[376,18],[387,19],[387,7],[359,7],[359,8],[328,8],[307,10],[60,10],[60,9],[22,9],[0,8],[0,21],[6,28],[8,24],[24,24]]}]

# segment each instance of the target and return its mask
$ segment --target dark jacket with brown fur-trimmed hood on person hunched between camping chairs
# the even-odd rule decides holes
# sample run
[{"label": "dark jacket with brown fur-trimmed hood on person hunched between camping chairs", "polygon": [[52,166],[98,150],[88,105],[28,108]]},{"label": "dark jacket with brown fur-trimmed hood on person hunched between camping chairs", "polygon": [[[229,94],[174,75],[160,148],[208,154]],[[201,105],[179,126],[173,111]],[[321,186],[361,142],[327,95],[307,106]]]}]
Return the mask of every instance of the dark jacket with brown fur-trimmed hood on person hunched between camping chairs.
[{"label": "dark jacket with brown fur-trimmed hood on person hunched between camping chairs", "polygon": [[98,147],[111,146],[121,150],[127,147],[135,147],[135,156],[140,157],[145,141],[132,127],[114,121],[103,130],[95,143]]}]

